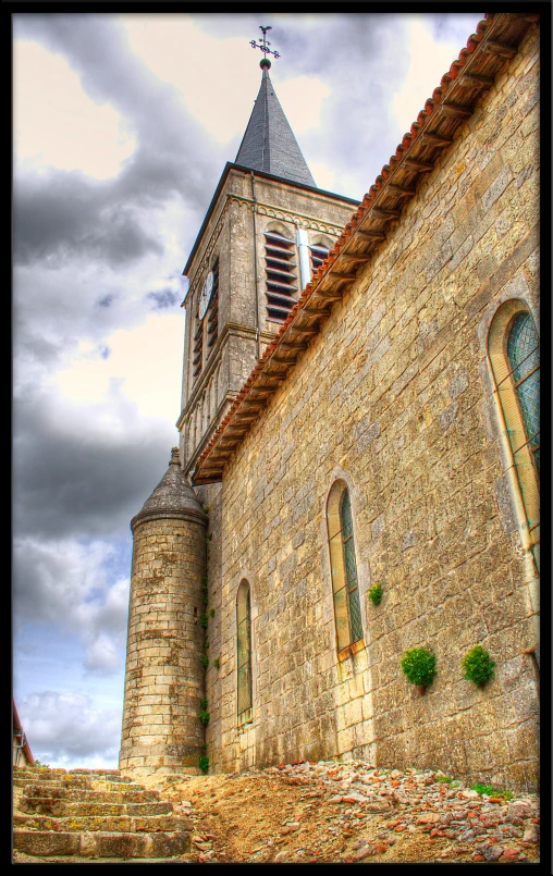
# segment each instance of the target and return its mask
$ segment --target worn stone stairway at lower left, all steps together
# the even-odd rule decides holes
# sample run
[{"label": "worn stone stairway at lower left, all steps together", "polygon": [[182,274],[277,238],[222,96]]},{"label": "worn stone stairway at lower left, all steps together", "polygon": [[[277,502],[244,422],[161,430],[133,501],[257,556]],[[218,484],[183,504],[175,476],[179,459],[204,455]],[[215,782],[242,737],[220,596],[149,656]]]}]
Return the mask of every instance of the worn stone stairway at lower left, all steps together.
[{"label": "worn stone stairway at lower left, all steps together", "polygon": [[118,769],[14,767],[13,785],[15,852],[169,863],[189,850],[191,819]]}]

